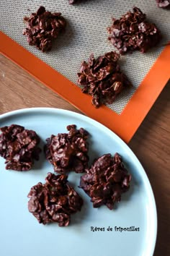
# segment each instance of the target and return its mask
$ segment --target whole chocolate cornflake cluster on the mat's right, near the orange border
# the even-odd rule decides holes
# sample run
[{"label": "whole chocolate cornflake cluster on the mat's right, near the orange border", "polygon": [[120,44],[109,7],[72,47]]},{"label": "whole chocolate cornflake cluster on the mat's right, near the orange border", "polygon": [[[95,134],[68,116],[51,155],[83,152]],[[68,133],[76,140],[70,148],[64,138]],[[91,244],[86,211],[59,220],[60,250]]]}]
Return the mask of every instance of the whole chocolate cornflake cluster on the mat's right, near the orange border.
[{"label": "whole chocolate cornflake cluster on the mat's right, near the orange border", "polygon": [[120,54],[138,50],[142,53],[156,46],[161,40],[161,33],[155,24],[147,22],[146,14],[138,7],[127,12],[119,20],[113,18],[112,26],[108,27],[109,40]]}]

